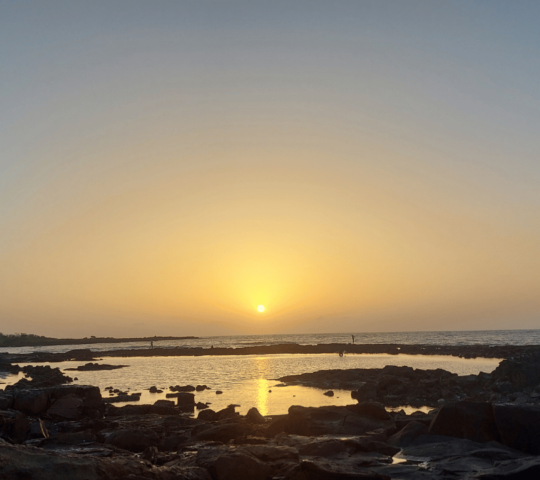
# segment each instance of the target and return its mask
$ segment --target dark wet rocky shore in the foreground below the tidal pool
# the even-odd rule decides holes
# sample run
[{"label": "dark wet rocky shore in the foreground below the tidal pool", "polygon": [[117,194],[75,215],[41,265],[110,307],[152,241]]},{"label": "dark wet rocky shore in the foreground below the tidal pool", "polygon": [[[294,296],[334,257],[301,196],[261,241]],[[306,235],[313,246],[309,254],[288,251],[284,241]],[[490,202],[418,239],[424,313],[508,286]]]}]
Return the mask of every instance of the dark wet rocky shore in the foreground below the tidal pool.
[{"label": "dark wet rocky shore in the foreground below the tidal pool", "polygon": [[[271,418],[256,408],[242,416],[234,405],[220,411],[197,405],[195,395],[206,385],[171,386],[169,400],[116,407],[98,387],[72,385],[57,368],[27,366],[23,371],[29,378],[0,392],[2,479],[494,480],[540,475],[537,352],[508,358],[489,375],[386,367],[283,377],[288,384],[348,389],[351,404],[291,406],[286,415]],[[398,404],[433,408],[409,415],[385,408]]]}]

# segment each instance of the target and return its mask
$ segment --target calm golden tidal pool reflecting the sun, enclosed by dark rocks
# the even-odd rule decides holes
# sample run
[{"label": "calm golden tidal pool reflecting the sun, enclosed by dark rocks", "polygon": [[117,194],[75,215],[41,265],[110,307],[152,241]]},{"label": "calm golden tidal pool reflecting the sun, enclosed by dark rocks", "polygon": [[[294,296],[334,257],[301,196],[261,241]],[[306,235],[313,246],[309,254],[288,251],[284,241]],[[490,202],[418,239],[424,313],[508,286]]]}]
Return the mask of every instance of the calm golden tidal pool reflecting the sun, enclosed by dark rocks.
[{"label": "calm golden tidal pool reflecting the sun, enclosed by dark rocks", "polygon": [[[334,397],[326,397],[324,391],[300,386],[276,386],[276,380],[285,375],[329,369],[382,368],[385,365],[407,365],[413,368],[445,370],[459,375],[490,373],[500,359],[461,359],[450,356],[427,355],[245,355],[208,357],[107,357],[103,363],[129,365],[117,370],[98,372],[65,372],[77,377],[75,383],[97,385],[106,396],[105,387],[122,391],[142,392],[138,403],[154,403],[164,399],[171,385],[206,384],[211,390],[194,392],[196,402],[211,402],[211,408],[219,410],[230,404],[245,414],[257,407],[262,415],[287,413],[291,405],[322,406],[356,403],[350,392],[334,390]],[[101,362],[100,362],[101,363]],[[61,370],[83,365],[84,362],[61,362],[51,364]],[[22,364],[21,364],[22,365]],[[3,379],[14,383],[15,376]],[[151,386],[163,389],[161,394],[148,392]],[[216,390],[223,391],[216,395]],[[271,390],[271,392],[269,392]],[[116,405],[124,405],[117,403]]]}]

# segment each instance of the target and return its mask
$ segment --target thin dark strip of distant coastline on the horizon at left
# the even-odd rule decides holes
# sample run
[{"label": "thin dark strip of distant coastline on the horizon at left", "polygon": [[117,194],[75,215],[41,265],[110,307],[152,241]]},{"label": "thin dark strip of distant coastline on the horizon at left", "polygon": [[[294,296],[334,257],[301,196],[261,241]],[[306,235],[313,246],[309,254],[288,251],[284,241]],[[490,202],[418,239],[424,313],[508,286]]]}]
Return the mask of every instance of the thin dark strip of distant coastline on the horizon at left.
[{"label": "thin dark strip of distant coastline on the horizon at left", "polygon": [[85,338],[53,338],[30,333],[4,335],[0,333],[0,347],[47,347],[55,345],[90,345],[95,343],[130,343],[130,342],[158,342],[161,340],[192,340],[199,337],[85,337]]}]

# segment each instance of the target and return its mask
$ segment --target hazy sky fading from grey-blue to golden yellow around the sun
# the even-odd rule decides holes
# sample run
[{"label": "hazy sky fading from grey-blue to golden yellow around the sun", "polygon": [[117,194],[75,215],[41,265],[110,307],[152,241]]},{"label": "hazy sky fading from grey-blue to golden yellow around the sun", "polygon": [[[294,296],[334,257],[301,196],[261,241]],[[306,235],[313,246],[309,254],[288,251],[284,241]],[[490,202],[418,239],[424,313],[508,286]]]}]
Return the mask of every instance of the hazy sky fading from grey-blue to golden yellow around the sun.
[{"label": "hazy sky fading from grey-blue to golden yellow around the sun", "polygon": [[0,331],[540,328],[539,21],[0,0]]}]

